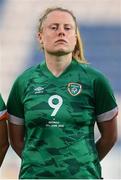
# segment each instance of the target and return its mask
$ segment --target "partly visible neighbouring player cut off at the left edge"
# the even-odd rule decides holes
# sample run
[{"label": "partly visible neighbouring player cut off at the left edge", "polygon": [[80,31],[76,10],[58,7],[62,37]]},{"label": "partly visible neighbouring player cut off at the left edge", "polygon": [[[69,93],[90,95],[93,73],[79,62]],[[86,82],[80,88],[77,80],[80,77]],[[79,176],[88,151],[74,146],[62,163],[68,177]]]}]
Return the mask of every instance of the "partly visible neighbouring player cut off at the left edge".
[{"label": "partly visible neighbouring player cut off at the left edge", "polygon": [[6,106],[0,94],[0,166],[2,165],[3,159],[9,146],[6,124],[7,119],[8,114]]}]

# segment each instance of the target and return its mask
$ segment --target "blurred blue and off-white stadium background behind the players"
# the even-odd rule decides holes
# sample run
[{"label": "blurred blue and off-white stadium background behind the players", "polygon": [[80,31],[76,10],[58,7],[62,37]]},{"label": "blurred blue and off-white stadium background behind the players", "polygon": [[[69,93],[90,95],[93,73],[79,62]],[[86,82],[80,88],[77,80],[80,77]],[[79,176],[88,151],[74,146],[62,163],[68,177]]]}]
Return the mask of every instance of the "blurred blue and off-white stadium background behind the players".
[{"label": "blurred blue and off-white stadium background behind the players", "polygon": [[[52,6],[68,8],[77,16],[86,58],[114,89],[119,137],[101,164],[105,179],[121,179],[121,0],[0,0],[0,91],[6,102],[15,78],[43,59],[37,24],[43,10]],[[19,168],[20,159],[9,148],[0,179],[17,179]]]}]

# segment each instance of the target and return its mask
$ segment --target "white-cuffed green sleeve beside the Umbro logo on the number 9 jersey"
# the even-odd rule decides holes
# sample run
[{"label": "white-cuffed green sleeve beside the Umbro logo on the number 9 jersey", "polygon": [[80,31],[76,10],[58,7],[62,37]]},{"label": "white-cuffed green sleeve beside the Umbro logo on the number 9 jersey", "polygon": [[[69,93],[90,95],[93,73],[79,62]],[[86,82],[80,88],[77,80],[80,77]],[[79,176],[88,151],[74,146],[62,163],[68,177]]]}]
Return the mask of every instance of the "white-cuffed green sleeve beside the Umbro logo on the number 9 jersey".
[{"label": "white-cuffed green sleeve beside the Umbro logo on the number 9 jersey", "polygon": [[16,125],[24,125],[24,96],[28,81],[33,75],[36,67],[25,70],[14,82],[11,89],[7,110],[9,121]]}]

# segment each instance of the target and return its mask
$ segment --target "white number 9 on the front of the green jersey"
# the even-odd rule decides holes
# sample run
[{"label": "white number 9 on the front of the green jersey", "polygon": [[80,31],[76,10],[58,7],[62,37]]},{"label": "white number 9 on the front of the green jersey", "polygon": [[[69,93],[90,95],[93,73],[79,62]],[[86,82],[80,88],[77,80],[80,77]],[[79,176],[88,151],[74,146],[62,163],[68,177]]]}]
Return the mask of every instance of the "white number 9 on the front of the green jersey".
[{"label": "white number 9 on the front of the green jersey", "polygon": [[[58,103],[57,104],[54,104],[53,101],[54,100],[58,100]],[[58,96],[58,95],[53,95],[53,96],[50,96],[50,98],[48,99],[48,104],[51,108],[53,108],[53,112],[51,114],[51,116],[55,116],[56,113],[58,112],[58,110],[60,109],[60,107],[62,106],[63,104],[63,99],[61,96]]]}]

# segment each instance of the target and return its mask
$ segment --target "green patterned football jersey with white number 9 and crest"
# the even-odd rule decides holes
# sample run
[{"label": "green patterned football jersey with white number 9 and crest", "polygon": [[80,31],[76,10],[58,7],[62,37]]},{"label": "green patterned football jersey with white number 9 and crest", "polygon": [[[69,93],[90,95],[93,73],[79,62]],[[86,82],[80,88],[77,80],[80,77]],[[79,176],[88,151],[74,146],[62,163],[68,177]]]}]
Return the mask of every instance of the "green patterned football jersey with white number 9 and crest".
[{"label": "green patterned football jersey with white number 9 and crest", "polygon": [[94,124],[117,105],[108,81],[72,60],[55,77],[46,63],[25,71],[8,99],[11,123],[25,126],[20,179],[100,179]]}]

